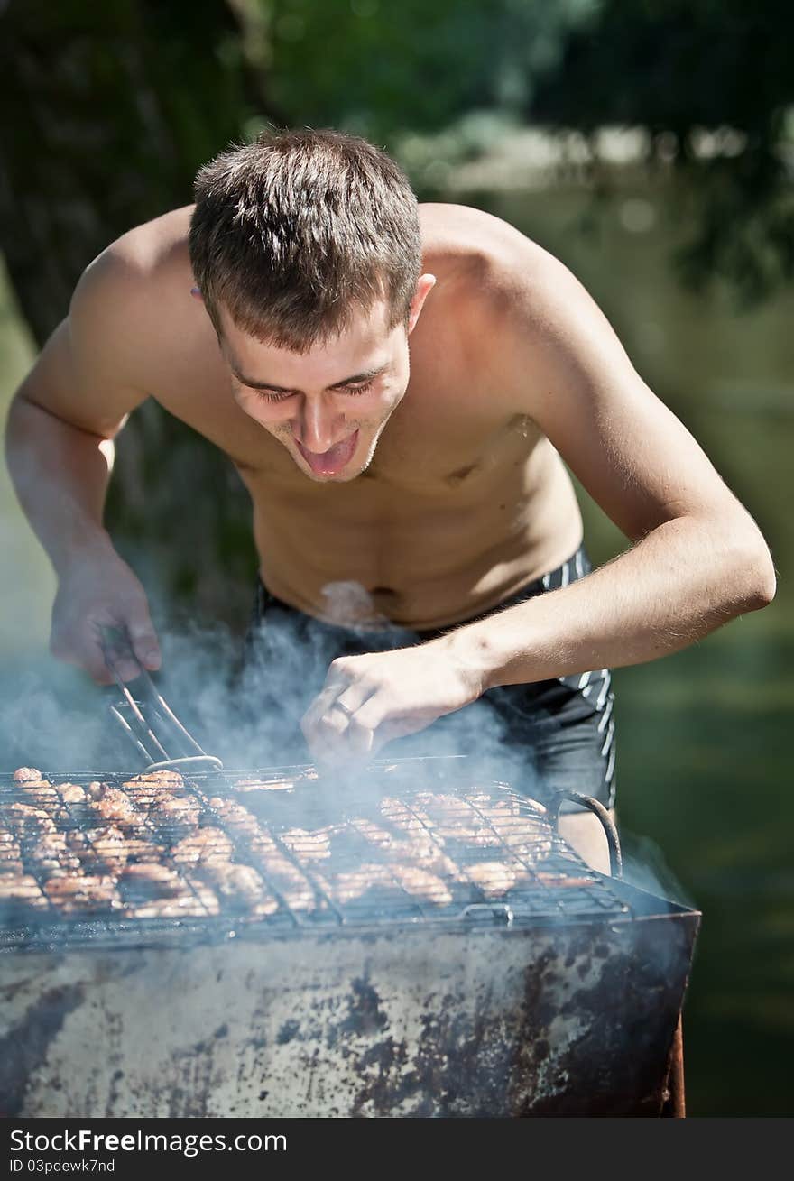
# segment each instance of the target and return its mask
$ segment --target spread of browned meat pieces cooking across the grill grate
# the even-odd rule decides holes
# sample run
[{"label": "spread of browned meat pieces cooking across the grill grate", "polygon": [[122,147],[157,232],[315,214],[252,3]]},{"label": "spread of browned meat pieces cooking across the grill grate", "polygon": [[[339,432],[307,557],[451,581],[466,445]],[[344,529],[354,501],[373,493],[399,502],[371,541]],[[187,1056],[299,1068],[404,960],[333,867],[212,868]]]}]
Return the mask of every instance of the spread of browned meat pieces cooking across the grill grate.
[{"label": "spread of browned meat pieces cooking across the grill grate", "polygon": [[[262,814],[260,822],[229,796],[202,802],[175,771],[134,776],[122,787],[99,779],[83,787],[51,784],[35,768],[20,768],[18,797],[6,803],[0,796],[4,918],[26,906],[131,919],[221,909],[268,916],[285,905],[315,912],[327,899],[344,906],[367,895],[370,903],[377,895],[390,905],[398,899],[443,908],[471,900],[473,890],[475,899],[503,896],[529,879],[526,860],[552,848],[540,814],[527,815],[515,796],[476,789],[376,797],[370,814],[339,823],[268,827],[273,813],[292,814],[292,802],[266,808],[263,794],[295,782],[235,783]],[[487,860],[473,861],[476,850]],[[565,874],[536,880],[552,888],[587,883]]]}]

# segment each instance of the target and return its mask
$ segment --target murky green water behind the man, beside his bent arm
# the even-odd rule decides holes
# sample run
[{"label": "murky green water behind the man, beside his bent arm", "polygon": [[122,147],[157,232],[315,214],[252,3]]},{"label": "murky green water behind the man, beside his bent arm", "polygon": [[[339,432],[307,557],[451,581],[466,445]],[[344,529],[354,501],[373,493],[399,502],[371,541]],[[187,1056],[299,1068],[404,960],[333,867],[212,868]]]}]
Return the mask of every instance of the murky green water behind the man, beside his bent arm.
[{"label": "murky green water behind the man, beside his bent arm", "polygon": [[[618,783],[623,827],[655,842],[704,912],[684,1024],[690,1114],[790,1115],[794,295],[750,314],[724,292],[684,293],[669,266],[671,205],[642,185],[606,209],[592,236],[578,229],[586,198],[574,190],[468,200],[571,266],[772,543],[781,575],[772,607],[677,655],[617,672]],[[30,357],[9,309],[0,312],[0,346],[5,405]],[[600,562],[625,543],[581,498]],[[46,659],[53,582],[4,477],[0,543],[8,693],[19,670]],[[59,672],[66,691],[70,677]]]}]

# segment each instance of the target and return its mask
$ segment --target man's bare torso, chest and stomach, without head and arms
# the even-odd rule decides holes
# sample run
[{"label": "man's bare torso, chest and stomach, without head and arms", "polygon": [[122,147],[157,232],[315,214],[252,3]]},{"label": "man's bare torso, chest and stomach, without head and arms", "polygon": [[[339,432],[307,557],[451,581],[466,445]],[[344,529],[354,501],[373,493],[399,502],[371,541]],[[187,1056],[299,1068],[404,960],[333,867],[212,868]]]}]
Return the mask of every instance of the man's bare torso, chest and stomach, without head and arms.
[{"label": "man's bare torso, chest and stomach, without head and arms", "polygon": [[581,540],[565,465],[527,411],[533,374],[495,364],[497,308],[483,304],[481,280],[488,252],[505,248],[503,223],[456,205],[421,211],[437,287],[410,338],[405,397],[349,483],[306,478],[233,400],[209,319],[189,296],[189,210],[134,231],[158,235],[157,320],[168,325],[145,389],[226,451],[252,496],[265,585],[321,619],[343,621],[334,590],[350,603],[352,585],[362,626],[444,627],[508,599]]}]

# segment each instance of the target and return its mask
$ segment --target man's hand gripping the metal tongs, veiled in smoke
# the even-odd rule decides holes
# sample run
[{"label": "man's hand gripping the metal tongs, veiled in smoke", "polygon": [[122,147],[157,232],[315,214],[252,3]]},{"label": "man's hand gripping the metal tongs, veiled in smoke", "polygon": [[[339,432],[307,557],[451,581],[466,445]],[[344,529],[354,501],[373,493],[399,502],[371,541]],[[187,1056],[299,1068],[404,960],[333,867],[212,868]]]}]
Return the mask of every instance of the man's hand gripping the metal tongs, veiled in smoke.
[{"label": "man's hand gripping the metal tongs, veiled in smoke", "polygon": [[[60,660],[85,668],[99,685],[112,681],[102,648],[103,628],[125,628],[132,651],[144,668],[160,667],[160,645],[149,615],[147,595],[118,555],[85,559],[66,570],[52,608],[50,651]],[[119,655],[117,668],[134,680],[138,667]]]}]

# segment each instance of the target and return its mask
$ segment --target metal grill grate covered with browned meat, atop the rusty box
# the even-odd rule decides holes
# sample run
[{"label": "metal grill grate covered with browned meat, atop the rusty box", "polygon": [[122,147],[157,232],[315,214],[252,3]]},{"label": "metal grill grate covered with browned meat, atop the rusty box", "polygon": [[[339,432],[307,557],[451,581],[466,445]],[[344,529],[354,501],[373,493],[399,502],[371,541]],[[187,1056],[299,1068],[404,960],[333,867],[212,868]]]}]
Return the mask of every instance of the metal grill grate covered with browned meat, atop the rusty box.
[{"label": "metal grill grate covered with browned meat, atop the rusty box", "polygon": [[0,948],[566,922],[627,908],[538,804],[456,761],[0,776]]}]

